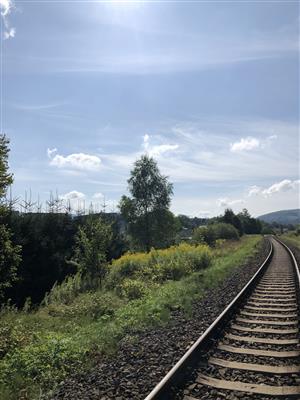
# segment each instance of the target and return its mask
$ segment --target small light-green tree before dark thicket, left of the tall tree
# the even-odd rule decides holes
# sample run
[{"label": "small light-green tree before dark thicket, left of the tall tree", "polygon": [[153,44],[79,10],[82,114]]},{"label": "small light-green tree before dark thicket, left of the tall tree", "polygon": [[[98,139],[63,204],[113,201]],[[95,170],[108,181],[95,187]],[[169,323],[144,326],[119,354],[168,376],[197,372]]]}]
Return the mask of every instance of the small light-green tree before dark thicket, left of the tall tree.
[{"label": "small light-green tree before dark thicket, left of the tall tree", "polygon": [[111,240],[111,226],[101,218],[89,218],[79,227],[72,263],[81,275],[99,278],[101,284],[107,271],[106,254]]}]

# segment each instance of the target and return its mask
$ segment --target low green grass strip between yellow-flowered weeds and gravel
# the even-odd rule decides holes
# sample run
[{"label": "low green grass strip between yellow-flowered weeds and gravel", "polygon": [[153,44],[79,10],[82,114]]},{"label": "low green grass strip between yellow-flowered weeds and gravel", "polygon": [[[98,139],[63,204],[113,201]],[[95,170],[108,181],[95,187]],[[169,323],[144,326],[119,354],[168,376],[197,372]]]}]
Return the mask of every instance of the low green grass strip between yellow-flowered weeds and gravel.
[{"label": "low green grass strip between yellow-flowered weeds and gravel", "polygon": [[87,368],[93,353],[113,353],[130,330],[165,324],[176,307],[188,312],[193,300],[253,255],[260,240],[244,237],[222,245],[214,250],[211,267],[149,289],[140,300],[98,291],[36,312],[3,310],[0,355],[6,356],[0,361],[0,398],[37,398],[69,373]]}]

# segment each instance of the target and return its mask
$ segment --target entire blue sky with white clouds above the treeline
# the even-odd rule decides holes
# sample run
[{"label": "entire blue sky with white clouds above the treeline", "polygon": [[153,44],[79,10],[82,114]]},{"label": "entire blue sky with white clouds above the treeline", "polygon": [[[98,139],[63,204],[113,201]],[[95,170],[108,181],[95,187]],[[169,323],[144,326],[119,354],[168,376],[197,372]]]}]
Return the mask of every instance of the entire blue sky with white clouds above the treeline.
[{"label": "entire blue sky with white clouds above the treeline", "polygon": [[114,209],[147,152],[176,214],[299,207],[298,2],[0,5],[15,196]]}]

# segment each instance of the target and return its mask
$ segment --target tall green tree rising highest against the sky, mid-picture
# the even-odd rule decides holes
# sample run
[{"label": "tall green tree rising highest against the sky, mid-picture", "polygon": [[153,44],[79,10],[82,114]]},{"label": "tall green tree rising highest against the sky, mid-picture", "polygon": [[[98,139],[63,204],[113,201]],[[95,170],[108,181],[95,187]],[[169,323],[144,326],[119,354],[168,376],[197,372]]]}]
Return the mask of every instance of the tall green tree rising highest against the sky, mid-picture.
[{"label": "tall green tree rising highest against the sky, mid-picture", "polygon": [[132,246],[149,251],[174,243],[179,224],[169,211],[173,186],[153,158],[143,155],[135,162],[128,188],[132,197],[122,196],[119,208]]}]

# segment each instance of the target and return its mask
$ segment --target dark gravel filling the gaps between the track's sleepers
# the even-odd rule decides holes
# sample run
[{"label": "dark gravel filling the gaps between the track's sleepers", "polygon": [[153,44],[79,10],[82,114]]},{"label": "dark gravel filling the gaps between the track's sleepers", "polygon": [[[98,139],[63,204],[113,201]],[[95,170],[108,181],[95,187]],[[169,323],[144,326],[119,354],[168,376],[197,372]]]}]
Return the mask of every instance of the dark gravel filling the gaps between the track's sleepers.
[{"label": "dark gravel filling the gaps between the track's sleepers", "polygon": [[[272,258],[272,262],[268,267],[268,271],[262,278],[271,280],[273,283],[278,284],[279,282],[284,281],[285,279],[293,279],[294,277],[294,267],[290,261],[290,257],[287,254],[286,250],[276,241],[274,241],[274,255]],[[272,283],[268,284],[269,287]],[[258,287],[261,286],[260,284]],[[267,292],[268,291],[268,292]],[[255,349],[255,350],[264,350],[264,351],[295,351],[299,350],[299,342],[295,344],[295,340],[297,341],[299,338],[299,330],[297,328],[297,311],[293,311],[293,314],[289,316],[287,312],[280,311],[280,308],[285,307],[285,301],[287,301],[286,297],[283,299],[278,298],[278,296],[288,296],[286,293],[278,293],[278,288],[275,286],[272,290],[265,289],[262,291],[263,294],[258,294],[258,290],[256,289],[253,293],[250,294],[248,298],[248,302],[245,303],[249,305],[252,301],[255,301],[257,307],[260,302],[265,303],[267,301],[267,305],[264,307],[276,307],[278,311],[276,313],[270,312],[269,317],[261,317],[261,314],[258,316],[255,315],[257,311],[250,311],[247,307],[241,308],[241,313],[233,317],[230,324],[228,324],[223,336],[220,337],[219,342],[216,343],[215,348],[211,348],[207,355],[207,364],[203,364],[199,367],[198,370],[195,370],[193,373],[193,377],[191,377],[190,382],[187,384],[184,393],[192,396],[197,399],[226,399],[226,400],[238,400],[242,399],[252,399],[252,400],[279,400],[279,397],[262,395],[262,394],[248,394],[245,392],[237,392],[234,390],[217,390],[213,387],[202,385],[201,383],[197,383],[196,378],[198,374],[204,374],[214,379],[225,380],[230,382],[244,382],[247,384],[253,385],[267,385],[268,387],[274,386],[277,388],[278,386],[283,387],[298,387],[300,383],[300,374],[299,371],[294,371],[293,373],[280,373],[269,372],[266,373],[263,371],[255,371],[251,368],[236,369],[232,367],[226,367],[226,361],[230,362],[240,362],[245,365],[245,363],[249,363],[250,365],[264,365],[264,366],[289,366],[289,367],[297,367],[299,366],[300,358],[299,357],[291,357],[291,358],[278,358],[278,357],[262,357],[258,355],[249,355],[249,354],[237,354],[228,351],[224,351],[224,349],[219,349],[219,345],[229,345],[234,348],[243,348],[243,349]],[[268,294],[267,294],[268,293]],[[268,300],[266,300],[266,296]],[[291,298],[288,300],[288,303],[292,304],[292,307],[297,310],[297,299],[295,295],[289,295]],[[253,300],[255,298],[255,300]],[[291,306],[289,306],[291,307]],[[247,313],[247,316],[243,315],[243,313]],[[253,315],[251,315],[253,314]],[[250,318],[250,319],[249,319]],[[257,323],[256,323],[257,321]],[[271,328],[271,329],[270,329]],[[246,330],[244,330],[246,329]],[[250,331],[252,330],[252,332]],[[262,332],[263,331],[263,332]],[[287,333],[290,331],[290,333]],[[227,336],[228,335],[228,336]],[[234,335],[234,337],[230,337],[230,335]],[[253,337],[257,338],[257,341],[252,342],[251,344],[243,341],[245,338]],[[237,338],[242,338],[241,340],[237,340]],[[268,340],[293,340],[293,343],[258,343],[259,339],[268,339]],[[209,361],[210,357],[214,359],[219,359],[225,362],[225,365],[219,366],[216,364],[213,359]],[[278,372],[278,373],[277,373]],[[177,398],[177,397],[176,397]],[[178,399],[182,399],[182,393],[178,394]],[[281,397],[282,398],[282,397]]]}]

